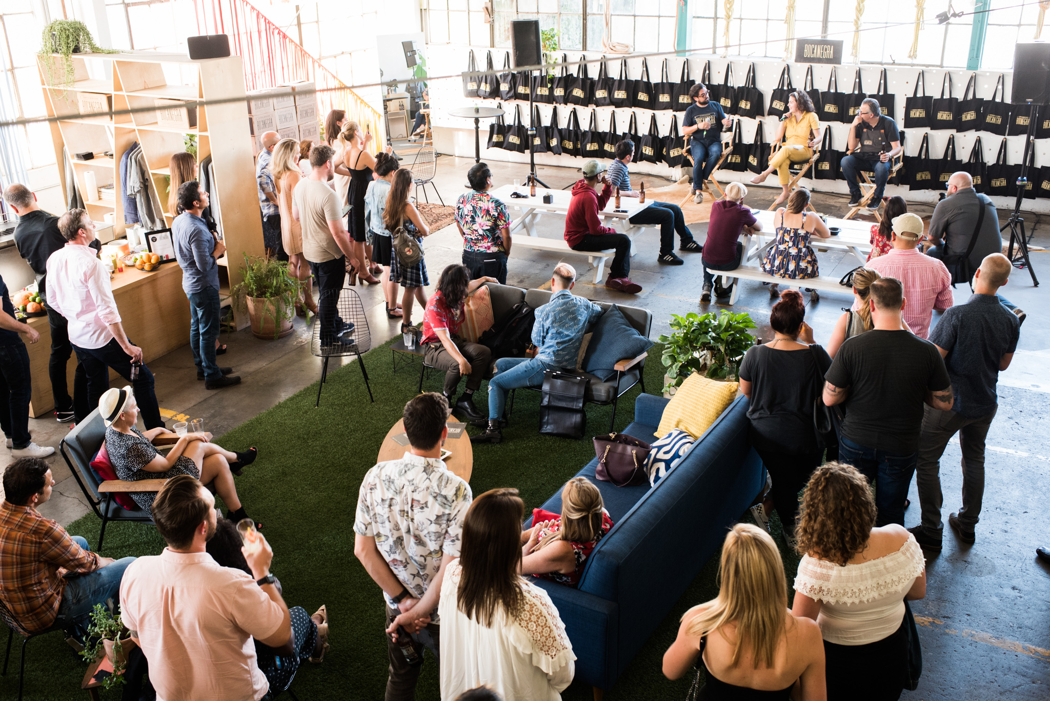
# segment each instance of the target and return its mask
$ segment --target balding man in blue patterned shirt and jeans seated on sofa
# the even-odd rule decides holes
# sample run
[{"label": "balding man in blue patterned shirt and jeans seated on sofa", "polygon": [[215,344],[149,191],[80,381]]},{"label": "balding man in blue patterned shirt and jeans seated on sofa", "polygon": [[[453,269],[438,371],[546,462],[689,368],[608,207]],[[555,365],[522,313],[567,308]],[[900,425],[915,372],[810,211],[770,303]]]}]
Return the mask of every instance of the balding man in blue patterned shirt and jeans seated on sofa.
[{"label": "balding man in blue patterned shirt and jeans seated on sofa", "polygon": [[[603,314],[600,306],[572,294],[576,271],[568,263],[559,263],[550,279],[553,294],[550,301],[536,310],[532,325],[532,343],[536,357],[501,357],[496,362],[496,374],[488,380],[488,421],[485,432],[470,438],[474,444],[498,444],[503,440],[500,431],[507,392],[519,387],[540,387],[547,370],[575,370],[587,327]],[[475,421],[485,427],[485,421]]]}]

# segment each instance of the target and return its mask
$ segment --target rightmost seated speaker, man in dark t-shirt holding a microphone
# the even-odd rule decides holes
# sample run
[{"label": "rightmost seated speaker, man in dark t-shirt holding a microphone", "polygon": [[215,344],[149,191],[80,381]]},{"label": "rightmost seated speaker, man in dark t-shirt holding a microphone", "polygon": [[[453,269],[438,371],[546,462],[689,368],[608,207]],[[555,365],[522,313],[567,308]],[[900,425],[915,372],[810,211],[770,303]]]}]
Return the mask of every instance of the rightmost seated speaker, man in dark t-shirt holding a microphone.
[{"label": "rightmost seated speaker, man in dark t-shirt holding a microphone", "polygon": [[842,177],[849,186],[848,207],[860,204],[863,194],[858,181],[862,170],[875,172],[875,193],[867,209],[876,210],[882,202],[882,190],[889,180],[890,161],[901,152],[901,135],[897,123],[882,115],[878,100],[868,98],[860,104],[857,117],[849,125],[848,146],[853,151],[842,159]]}]

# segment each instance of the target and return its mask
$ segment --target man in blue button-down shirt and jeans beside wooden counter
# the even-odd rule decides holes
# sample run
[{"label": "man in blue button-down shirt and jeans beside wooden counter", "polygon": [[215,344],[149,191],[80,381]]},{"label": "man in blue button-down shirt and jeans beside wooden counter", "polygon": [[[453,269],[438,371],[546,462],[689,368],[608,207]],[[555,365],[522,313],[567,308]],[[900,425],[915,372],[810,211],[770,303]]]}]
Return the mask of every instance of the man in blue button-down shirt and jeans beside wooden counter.
[{"label": "man in blue button-down shirt and jeans beside wooden counter", "polygon": [[215,362],[220,306],[218,302],[218,259],[226,244],[215,239],[201,218],[208,206],[208,191],[195,180],[178,186],[178,206],[183,213],[171,224],[175,260],[183,269],[183,290],[190,301],[190,348],[197,379],[209,390],[240,383],[230,375],[232,368],[219,368]]}]

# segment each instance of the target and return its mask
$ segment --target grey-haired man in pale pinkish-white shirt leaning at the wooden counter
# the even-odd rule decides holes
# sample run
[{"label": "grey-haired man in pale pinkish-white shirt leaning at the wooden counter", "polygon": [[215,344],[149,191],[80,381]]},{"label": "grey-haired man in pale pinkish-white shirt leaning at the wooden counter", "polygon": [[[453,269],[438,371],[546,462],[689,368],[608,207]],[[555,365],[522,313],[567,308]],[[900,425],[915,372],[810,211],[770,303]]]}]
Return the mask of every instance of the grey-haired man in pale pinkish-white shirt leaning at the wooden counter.
[{"label": "grey-haired man in pale pinkish-white shirt leaning at the wooden counter", "polygon": [[[47,259],[47,302],[68,322],[69,343],[87,373],[87,407],[99,406],[109,389],[109,368],[134,388],[146,429],[164,427],[153,392],[153,373],[142,362],[142,349],[131,344],[121,326],[109,273],[90,244],[94,224],[84,209],[70,209],[59,219],[66,245]],[[138,376],[131,378],[131,365]]]}]

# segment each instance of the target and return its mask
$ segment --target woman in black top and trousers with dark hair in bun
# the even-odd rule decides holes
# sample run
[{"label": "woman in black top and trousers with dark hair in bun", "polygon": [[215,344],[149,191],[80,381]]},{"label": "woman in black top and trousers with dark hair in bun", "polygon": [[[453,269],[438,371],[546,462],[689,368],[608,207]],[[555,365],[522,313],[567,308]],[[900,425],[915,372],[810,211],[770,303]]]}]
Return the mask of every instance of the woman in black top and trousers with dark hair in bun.
[{"label": "woman in black top and trousers with dark hair in bun", "polygon": [[773,478],[773,502],[791,545],[798,492],[824,452],[813,427],[813,403],[819,398],[814,374],[822,378],[832,365],[823,348],[810,349],[813,329],[804,317],[802,294],[784,290],[770,312],[776,338],[752,346],[740,364],[740,391],[751,400],[751,442]]}]

